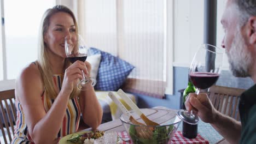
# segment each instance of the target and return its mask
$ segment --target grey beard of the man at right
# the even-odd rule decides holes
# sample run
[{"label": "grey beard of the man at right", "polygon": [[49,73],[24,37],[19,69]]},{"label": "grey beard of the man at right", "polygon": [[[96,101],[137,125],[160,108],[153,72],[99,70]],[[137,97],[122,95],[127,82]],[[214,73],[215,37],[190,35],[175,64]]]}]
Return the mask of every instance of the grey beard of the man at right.
[{"label": "grey beard of the man at right", "polygon": [[231,48],[226,51],[228,55],[230,70],[237,77],[247,77],[249,68],[252,65],[252,55],[246,49],[245,39],[243,39],[240,28],[237,28],[237,34],[232,41]]}]

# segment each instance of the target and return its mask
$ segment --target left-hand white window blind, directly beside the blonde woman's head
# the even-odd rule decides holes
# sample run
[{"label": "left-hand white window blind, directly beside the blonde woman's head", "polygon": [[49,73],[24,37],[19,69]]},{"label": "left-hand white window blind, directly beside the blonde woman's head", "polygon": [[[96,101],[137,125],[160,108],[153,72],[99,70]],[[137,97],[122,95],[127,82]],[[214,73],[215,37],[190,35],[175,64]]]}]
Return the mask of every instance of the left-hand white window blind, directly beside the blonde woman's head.
[{"label": "left-hand white window blind, directly beside the blonde woman's head", "polygon": [[117,13],[115,2],[116,0],[85,1],[84,26],[85,41],[90,47],[96,47],[117,56]]}]

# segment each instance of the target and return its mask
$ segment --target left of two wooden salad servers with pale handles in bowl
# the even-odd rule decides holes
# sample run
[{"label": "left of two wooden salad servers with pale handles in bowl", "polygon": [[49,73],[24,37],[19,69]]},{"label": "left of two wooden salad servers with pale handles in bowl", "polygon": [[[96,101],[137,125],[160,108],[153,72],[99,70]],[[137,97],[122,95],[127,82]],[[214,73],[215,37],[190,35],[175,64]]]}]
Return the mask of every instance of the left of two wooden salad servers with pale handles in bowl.
[{"label": "left of two wooden salad servers with pale handles in bowl", "polygon": [[153,136],[153,129],[150,127],[147,127],[145,124],[138,122],[131,113],[126,109],[126,107],[121,103],[121,101],[115,97],[115,95],[112,92],[108,93],[108,96],[114,101],[115,104],[123,111],[124,115],[129,117],[129,120],[135,124],[135,125],[141,125],[141,127],[135,127],[136,132],[139,137],[142,137],[143,139],[151,139]]}]

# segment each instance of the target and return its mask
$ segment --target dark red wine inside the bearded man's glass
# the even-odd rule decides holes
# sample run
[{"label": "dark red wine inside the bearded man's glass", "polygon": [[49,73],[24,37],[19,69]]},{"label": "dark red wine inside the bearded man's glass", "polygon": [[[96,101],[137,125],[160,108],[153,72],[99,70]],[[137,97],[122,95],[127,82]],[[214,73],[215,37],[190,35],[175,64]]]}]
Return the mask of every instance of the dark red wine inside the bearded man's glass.
[{"label": "dark red wine inside the bearded man's glass", "polygon": [[193,85],[198,89],[209,88],[219,79],[217,73],[194,72],[190,73],[189,76]]}]

